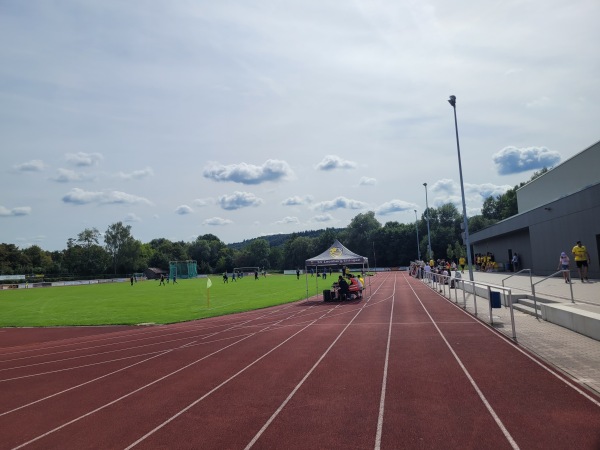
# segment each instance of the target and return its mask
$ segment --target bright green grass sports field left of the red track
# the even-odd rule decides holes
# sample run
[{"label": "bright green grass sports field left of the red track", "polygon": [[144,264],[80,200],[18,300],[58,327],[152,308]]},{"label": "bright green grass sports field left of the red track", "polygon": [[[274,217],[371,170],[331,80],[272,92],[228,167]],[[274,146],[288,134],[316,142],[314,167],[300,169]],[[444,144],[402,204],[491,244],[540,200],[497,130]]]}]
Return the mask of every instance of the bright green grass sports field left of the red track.
[{"label": "bright green grass sports field left of the red track", "polygon": [[[211,277],[210,305],[207,279],[92,284],[0,291],[0,327],[68,325],[136,325],[174,323],[265,308],[306,298],[304,277],[269,275],[245,277],[224,284]],[[319,278],[319,290],[331,286]],[[315,278],[308,278],[315,295]]]}]

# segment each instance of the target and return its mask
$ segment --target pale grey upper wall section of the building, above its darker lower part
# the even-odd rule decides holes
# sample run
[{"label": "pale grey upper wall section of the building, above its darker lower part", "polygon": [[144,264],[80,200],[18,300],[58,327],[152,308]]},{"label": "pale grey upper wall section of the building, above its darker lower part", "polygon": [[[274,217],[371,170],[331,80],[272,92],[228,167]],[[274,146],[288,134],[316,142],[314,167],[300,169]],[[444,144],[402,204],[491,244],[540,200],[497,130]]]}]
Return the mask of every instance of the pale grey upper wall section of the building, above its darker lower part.
[{"label": "pale grey upper wall section of the building, above its darker lower part", "polygon": [[517,189],[519,213],[600,182],[600,141]]}]

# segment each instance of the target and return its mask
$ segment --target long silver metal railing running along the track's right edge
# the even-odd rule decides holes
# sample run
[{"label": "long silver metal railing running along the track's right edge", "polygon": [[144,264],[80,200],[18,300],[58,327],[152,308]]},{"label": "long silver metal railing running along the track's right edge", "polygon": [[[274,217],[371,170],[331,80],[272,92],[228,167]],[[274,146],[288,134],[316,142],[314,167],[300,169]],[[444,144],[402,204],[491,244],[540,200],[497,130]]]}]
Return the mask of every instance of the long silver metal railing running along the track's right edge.
[{"label": "long silver metal railing running along the track's right edge", "polygon": [[[474,315],[478,317],[477,312],[477,287],[479,286],[484,292],[487,292],[488,301],[489,301],[489,314],[490,314],[490,325],[494,325],[494,316],[492,314],[492,290],[495,292],[500,292],[504,295],[504,298],[507,300],[505,303],[505,307],[507,306],[510,310],[510,322],[512,327],[512,338],[517,340],[517,332],[515,327],[515,316],[513,310],[513,300],[512,300],[512,288],[507,288],[505,286],[498,286],[494,284],[481,283],[478,281],[470,281],[465,280],[463,278],[452,278],[449,275],[442,275],[431,272],[424,272],[423,283],[428,284],[433,290],[438,291],[444,297],[448,298],[452,301],[452,290],[454,290],[454,302],[458,305],[458,290],[462,290],[463,292],[463,302],[462,308],[464,310],[467,309],[467,295],[473,295],[473,308]],[[448,286],[448,294],[446,295],[446,286]],[[453,289],[454,288],[454,289]],[[483,297],[483,296],[482,296]]]}]

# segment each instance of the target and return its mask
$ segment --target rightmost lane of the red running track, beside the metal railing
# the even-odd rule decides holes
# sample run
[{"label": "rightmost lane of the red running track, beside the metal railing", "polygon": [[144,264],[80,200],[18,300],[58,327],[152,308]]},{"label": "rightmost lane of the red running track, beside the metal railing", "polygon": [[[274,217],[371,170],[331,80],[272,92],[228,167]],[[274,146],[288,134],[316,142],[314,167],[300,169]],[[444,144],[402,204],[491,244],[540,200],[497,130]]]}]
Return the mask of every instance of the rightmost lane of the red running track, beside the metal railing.
[{"label": "rightmost lane of the red running track, beside the metal railing", "polygon": [[[598,400],[435,292],[420,296],[521,448],[600,446]],[[464,326],[465,319],[475,326]]]}]

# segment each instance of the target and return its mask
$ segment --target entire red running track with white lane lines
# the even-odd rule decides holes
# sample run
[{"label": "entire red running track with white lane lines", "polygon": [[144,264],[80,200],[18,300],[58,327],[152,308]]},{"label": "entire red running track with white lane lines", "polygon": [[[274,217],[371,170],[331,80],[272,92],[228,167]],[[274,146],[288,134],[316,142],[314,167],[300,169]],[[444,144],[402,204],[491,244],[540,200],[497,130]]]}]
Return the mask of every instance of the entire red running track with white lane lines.
[{"label": "entire red running track with white lane lines", "polygon": [[597,396],[404,273],[361,302],[0,342],[1,449],[600,448]]}]

